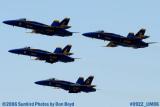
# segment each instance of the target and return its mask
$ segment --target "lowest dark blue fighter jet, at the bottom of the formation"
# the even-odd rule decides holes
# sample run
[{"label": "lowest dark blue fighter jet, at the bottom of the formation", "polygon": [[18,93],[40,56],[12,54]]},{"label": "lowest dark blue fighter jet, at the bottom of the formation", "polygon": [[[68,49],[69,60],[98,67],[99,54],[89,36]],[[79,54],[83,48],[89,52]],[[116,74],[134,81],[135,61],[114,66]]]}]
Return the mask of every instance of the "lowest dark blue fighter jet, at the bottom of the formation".
[{"label": "lowest dark blue fighter jet, at the bottom of the formation", "polygon": [[76,83],[52,78],[48,80],[37,81],[35,82],[35,84],[61,88],[68,91],[69,93],[79,93],[79,92],[89,93],[96,91],[96,89],[94,88],[95,85],[91,85],[93,78],[94,78],[93,76],[89,76],[84,81],[83,77],[79,77]]}]

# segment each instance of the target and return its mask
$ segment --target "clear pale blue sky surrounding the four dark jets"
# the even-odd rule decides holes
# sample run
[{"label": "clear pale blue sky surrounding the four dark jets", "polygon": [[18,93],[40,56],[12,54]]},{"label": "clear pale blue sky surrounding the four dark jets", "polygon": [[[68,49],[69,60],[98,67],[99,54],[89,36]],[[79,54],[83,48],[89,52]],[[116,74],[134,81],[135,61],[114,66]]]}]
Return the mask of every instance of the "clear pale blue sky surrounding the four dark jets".
[{"label": "clear pale blue sky surrounding the four dark jets", "polygon": [[[0,24],[0,102],[68,101],[76,107],[129,107],[132,101],[160,102],[160,45],[145,49],[103,48],[108,42],[83,37],[90,31],[105,30],[126,36],[146,28],[160,41],[159,0],[1,0],[0,21],[27,18],[51,24],[70,17],[72,37],[28,34],[30,30]],[[8,52],[31,46],[54,51],[72,44],[73,63],[48,64]],[[69,94],[64,90],[34,84],[55,77],[75,82],[79,76],[94,75],[94,93]]]}]

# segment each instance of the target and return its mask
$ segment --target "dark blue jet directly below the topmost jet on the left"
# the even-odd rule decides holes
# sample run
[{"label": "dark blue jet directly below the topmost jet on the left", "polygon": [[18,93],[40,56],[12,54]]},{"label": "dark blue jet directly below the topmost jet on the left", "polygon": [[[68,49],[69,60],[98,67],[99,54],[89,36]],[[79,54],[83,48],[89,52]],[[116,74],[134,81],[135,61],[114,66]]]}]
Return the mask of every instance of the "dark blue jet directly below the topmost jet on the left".
[{"label": "dark blue jet directly below the topmost jet on the left", "polygon": [[67,45],[64,49],[57,47],[55,51],[48,52],[40,49],[33,49],[31,47],[25,47],[20,49],[13,49],[9,50],[9,52],[14,54],[26,55],[31,57],[36,57],[34,60],[41,60],[48,63],[55,63],[55,62],[73,62],[75,58],[70,57],[73,53],[70,53],[71,45]]}]

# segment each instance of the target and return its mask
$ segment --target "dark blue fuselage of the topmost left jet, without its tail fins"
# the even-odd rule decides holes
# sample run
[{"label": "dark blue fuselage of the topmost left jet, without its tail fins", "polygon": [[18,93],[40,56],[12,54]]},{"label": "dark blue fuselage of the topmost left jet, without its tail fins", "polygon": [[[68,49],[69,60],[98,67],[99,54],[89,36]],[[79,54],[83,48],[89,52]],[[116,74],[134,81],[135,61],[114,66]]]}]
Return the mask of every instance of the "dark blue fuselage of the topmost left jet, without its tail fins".
[{"label": "dark blue fuselage of the topmost left jet, without its tail fins", "polygon": [[65,28],[61,26],[54,27],[54,26],[46,25],[43,23],[35,22],[35,21],[27,21],[26,19],[8,20],[8,21],[4,21],[3,23],[12,25],[12,26],[32,29],[33,30],[32,33],[39,33],[39,34],[44,34],[48,36],[58,35],[58,36],[64,37],[64,36],[72,35],[72,32],[65,30]]}]

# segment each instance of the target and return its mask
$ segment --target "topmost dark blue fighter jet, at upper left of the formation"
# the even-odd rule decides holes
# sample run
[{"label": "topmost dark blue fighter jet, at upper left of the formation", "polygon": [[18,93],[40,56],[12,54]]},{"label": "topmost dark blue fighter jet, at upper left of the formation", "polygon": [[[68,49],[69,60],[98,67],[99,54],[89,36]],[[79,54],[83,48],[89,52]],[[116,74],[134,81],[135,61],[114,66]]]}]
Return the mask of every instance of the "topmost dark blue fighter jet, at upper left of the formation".
[{"label": "topmost dark blue fighter jet, at upper left of the formation", "polygon": [[32,32],[29,33],[38,33],[38,34],[44,34],[48,36],[72,36],[73,32],[67,31],[66,29],[70,28],[71,26],[68,26],[69,18],[65,18],[61,22],[58,20],[54,20],[51,25],[46,25],[43,23],[39,23],[36,21],[29,21],[25,18],[18,19],[18,20],[7,20],[3,21],[3,23],[12,25],[12,26],[18,26],[22,28],[31,29]]}]

